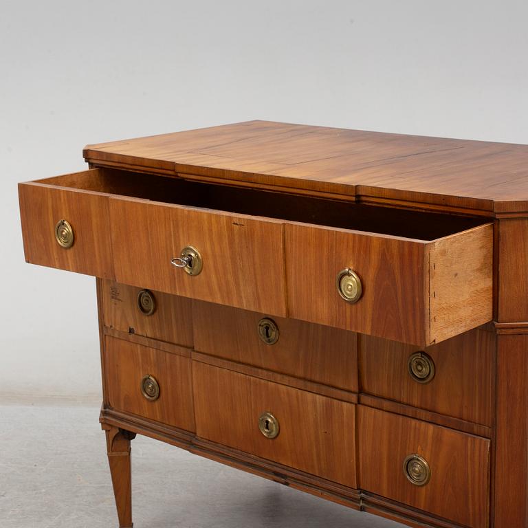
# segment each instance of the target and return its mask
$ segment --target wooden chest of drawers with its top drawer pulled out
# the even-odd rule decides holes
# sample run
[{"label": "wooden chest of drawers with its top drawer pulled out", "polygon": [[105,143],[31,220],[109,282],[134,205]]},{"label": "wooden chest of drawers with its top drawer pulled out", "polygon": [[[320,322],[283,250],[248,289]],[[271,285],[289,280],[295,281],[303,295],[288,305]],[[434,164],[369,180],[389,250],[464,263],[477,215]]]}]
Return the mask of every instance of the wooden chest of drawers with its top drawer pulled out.
[{"label": "wooden chest of drawers with its top drawer pulled out", "polygon": [[28,262],[96,276],[130,442],[413,527],[528,526],[528,146],[271,122],[87,146],[20,184]]}]

